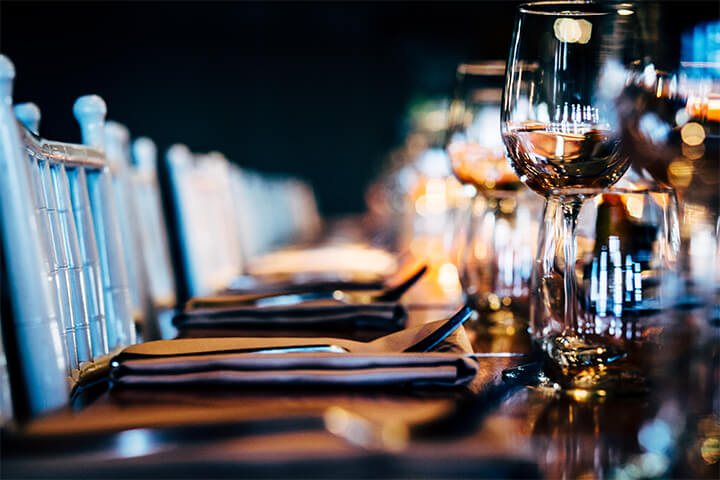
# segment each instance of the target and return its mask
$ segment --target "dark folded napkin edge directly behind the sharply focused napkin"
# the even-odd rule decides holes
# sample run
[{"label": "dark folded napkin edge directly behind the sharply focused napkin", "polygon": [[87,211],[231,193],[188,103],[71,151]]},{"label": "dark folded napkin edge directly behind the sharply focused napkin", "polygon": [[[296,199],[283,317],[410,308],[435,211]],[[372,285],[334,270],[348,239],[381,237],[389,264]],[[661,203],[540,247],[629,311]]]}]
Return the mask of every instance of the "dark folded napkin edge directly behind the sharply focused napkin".
[{"label": "dark folded napkin edge directly behind the sharply focused napkin", "polygon": [[337,300],[308,300],[290,306],[242,306],[201,308],[181,312],[173,319],[180,332],[218,329],[226,336],[242,330],[252,333],[374,331],[388,333],[405,325],[407,312],[397,303],[348,304]]}]

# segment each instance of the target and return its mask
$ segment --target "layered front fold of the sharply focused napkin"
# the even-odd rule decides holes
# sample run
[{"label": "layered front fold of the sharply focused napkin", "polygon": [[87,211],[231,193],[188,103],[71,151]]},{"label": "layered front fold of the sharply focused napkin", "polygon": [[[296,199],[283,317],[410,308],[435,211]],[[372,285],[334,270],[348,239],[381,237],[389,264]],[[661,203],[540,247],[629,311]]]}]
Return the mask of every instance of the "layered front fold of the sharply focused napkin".
[{"label": "layered front fold of the sharply focused napkin", "polygon": [[127,358],[111,379],[127,386],[459,386],[477,363],[447,353],[219,353]]}]

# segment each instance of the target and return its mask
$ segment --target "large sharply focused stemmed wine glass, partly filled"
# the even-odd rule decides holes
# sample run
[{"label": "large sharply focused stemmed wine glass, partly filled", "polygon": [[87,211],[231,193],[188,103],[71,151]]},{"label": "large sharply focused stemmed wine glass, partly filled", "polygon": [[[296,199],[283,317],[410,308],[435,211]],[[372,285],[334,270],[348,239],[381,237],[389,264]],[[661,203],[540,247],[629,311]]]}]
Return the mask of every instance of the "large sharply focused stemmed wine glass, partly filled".
[{"label": "large sharply focused stemmed wine glass, partly filled", "polygon": [[557,362],[593,351],[578,322],[575,227],[585,199],[620,180],[629,165],[613,87],[616,73],[639,55],[635,16],[626,3],[518,7],[501,128],[520,180],[546,196],[546,210],[557,204],[560,213],[553,226],[564,259],[562,328],[552,349]]}]

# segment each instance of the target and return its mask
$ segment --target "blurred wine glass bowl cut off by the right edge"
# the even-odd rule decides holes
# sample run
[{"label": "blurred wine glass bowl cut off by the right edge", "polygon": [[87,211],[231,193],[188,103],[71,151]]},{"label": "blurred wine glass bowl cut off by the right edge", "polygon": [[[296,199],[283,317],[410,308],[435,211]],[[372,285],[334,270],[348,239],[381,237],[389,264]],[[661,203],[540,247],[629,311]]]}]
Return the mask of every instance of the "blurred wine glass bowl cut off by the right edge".
[{"label": "blurred wine glass bowl cut off by the right edge", "polygon": [[633,65],[616,100],[623,149],[636,176],[670,185],[681,198],[696,194],[693,187],[707,194],[718,183],[720,75],[711,67],[695,67],[690,76]]}]

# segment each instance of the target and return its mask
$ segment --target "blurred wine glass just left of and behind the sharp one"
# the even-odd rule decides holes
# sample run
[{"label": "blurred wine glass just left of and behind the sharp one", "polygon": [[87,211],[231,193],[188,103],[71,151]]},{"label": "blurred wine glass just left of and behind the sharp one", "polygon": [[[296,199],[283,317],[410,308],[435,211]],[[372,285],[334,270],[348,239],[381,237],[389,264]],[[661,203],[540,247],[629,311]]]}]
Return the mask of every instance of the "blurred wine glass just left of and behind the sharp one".
[{"label": "blurred wine glass just left of and behind the sharp one", "polygon": [[541,204],[522,188],[505,155],[504,82],[504,61],[458,66],[446,150],[455,176],[474,196],[454,228],[464,237],[457,259],[463,292],[479,313],[472,323],[480,331],[512,334],[526,325]]}]

